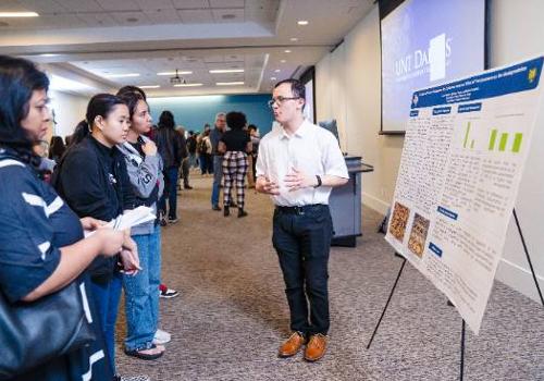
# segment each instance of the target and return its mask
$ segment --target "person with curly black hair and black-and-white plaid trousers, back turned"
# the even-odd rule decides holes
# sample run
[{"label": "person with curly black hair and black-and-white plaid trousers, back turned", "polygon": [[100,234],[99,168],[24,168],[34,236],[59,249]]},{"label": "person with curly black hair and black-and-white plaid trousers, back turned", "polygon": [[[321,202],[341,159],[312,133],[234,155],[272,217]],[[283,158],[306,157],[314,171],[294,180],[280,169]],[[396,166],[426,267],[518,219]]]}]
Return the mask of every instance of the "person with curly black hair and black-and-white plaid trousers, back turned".
[{"label": "person with curly black hair and black-and-white plaid trousers, back turned", "polygon": [[238,201],[238,218],[246,217],[244,210],[245,184],[247,173],[247,152],[251,151],[249,135],[244,130],[247,120],[243,112],[232,111],[225,116],[230,131],[225,132],[219,140],[218,152],[223,153],[223,175],[225,185],[223,187],[223,216],[230,214],[231,192],[236,184]]}]

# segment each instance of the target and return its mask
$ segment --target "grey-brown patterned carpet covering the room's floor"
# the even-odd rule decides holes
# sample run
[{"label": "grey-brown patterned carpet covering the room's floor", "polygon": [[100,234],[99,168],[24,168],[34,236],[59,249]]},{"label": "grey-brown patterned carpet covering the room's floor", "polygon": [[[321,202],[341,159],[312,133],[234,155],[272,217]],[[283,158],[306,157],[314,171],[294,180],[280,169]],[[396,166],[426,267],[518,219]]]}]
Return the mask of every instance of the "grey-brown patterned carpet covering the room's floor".
[{"label": "grey-brown patterned carpet covering the room's floor", "polygon": [[[180,222],[163,229],[162,278],[181,296],[161,299],[166,354],[144,361],[122,353],[118,370],[152,380],[458,380],[461,319],[407,265],[367,351],[401,259],[375,233],[381,216],[363,208],[356,248],[332,248],[332,327],[326,356],[276,357],[288,334],[284,284],[272,248],[272,205],[247,193],[249,216],[210,208],[210,177],[193,174],[178,197]],[[234,210],[236,211],[236,210]],[[544,380],[544,308],[496,282],[479,336],[467,334],[465,380]]]}]

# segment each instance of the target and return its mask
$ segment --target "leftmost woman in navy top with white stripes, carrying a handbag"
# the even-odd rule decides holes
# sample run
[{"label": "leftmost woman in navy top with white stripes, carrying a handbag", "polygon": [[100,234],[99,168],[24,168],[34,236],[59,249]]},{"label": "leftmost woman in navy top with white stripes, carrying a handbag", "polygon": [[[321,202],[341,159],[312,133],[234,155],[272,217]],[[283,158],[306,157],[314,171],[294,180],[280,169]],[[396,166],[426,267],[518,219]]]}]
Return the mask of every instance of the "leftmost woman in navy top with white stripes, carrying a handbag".
[{"label": "leftmost woman in navy top with white stripes, carrying a handbag", "polygon": [[[125,242],[124,232],[92,218],[79,219],[36,176],[40,158],[32,147],[48,131],[48,87],[46,74],[30,61],[0,56],[0,179],[10,180],[0,181],[0,292],[10,304],[39,300],[73,282],[87,290],[82,293],[85,303],[85,295],[91,295],[85,270],[100,256],[115,256]],[[96,232],[84,238],[84,230]],[[12,381],[111,380],[98,315],[92,303],[88,307],[94,342]]]}]

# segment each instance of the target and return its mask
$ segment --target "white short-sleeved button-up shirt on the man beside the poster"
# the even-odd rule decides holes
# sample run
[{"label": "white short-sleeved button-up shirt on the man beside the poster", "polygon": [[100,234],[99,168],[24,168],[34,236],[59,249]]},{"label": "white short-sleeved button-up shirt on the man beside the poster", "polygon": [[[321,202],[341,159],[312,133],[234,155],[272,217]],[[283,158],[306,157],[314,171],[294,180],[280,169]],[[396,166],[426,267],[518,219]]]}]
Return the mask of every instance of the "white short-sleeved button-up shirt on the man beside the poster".
[{"label": "white short-sleeved button-up shirt on the man beside the poster", "polygon": [[267,176],[280,186],[280,195],[271,196],[277,206],[329,205],[330,186],[287,190],[284,177],[293,168],[308,175],[349,179],[338,140],[308,120],[292,136],[283,126],[264,135],[259,146],[256,172],[257,176]]}]

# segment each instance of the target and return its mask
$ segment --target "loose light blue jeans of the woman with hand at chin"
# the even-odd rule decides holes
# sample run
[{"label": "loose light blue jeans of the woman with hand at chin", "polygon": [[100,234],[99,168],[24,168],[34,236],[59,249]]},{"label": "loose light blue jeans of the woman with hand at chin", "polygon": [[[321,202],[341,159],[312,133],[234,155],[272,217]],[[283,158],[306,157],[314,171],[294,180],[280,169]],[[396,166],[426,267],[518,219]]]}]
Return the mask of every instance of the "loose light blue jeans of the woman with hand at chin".
[{"label": "loose light blue jeans of the woman with hand at chin", "polygon": [[133,235],[138,245],[141,271],[123,275],[127,351],[148,349],[153,344],[159,322],[159,283],[161,278],[161,230]]}]

